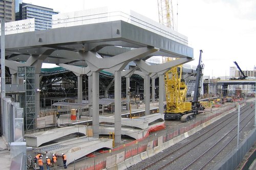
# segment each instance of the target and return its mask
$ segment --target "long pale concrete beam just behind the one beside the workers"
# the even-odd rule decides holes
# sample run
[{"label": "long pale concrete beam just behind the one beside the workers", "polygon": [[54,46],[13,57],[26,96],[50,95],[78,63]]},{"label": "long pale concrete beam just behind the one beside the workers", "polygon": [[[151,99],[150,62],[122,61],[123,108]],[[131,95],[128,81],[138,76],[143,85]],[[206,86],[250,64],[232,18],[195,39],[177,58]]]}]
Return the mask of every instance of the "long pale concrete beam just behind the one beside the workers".
[{"label": "long pale concrete beam just behind the one beside the workers", "polygon": [[26,142],[30,147],[39,147],[41,144],[58,139],[63,136],[67,136],[73,133],[81,133],[86,135],[87,126],[75,125],[69,127],[63,127],[44,132],[36,132],[32,134],[26,134]]}]

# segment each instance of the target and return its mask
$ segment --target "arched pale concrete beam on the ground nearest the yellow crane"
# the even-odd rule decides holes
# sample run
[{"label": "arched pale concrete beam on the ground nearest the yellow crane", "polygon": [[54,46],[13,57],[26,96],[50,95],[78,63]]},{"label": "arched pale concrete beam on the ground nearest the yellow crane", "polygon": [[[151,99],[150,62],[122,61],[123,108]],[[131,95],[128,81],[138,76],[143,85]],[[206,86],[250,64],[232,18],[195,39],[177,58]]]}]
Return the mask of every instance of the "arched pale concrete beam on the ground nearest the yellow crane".
[{"label": "arched pale concrete beam on the ground nearest the yellow crane", "polygon": [[[155,113],[155,114],[141,116],[137,118],[121,118],[121,125],[140,128],[140,129],[147,129],[151,123],[153,123],[158,119],[161,119],[162,121],[164,121],[164,114]],[[114,124],[115,117],[100,116],[99,123],[102,123],[102,122]]]}]

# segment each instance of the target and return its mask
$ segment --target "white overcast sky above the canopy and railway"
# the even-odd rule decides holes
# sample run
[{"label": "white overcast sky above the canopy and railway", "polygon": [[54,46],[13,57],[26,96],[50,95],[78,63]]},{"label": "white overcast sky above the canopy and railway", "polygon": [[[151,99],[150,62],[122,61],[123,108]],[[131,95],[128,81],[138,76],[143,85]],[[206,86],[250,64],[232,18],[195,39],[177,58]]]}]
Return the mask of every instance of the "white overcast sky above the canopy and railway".
[{"label": "white overcast sky above the canopy and railway", "polygon": [[[157,0],[23,0],[24,3],[65,13],[83,9],[112,7],[133,10],[158,21]],[[205,76],[229,76],[237,61],[242,70],[256,66],[255,0],[173,0],[175,29],[188,37],[197,65],[203,50]],[[178,10],[178,15],[177,15]],[[177,17],[178,16],[178,17]],[[177,19],[178,18],[178,19]]]}]

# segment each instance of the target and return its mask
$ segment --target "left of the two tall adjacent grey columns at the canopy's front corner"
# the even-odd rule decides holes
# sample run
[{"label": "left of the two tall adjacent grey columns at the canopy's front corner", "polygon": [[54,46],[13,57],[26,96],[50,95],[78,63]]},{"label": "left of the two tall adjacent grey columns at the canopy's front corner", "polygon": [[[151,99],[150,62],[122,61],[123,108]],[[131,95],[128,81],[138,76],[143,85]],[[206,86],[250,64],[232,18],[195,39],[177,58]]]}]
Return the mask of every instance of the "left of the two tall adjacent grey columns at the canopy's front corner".
[{"label": "left of the two tall adjacent grey columns at the canopy's front corner", "polygon": [[99,72],[93,71],[93,137],[99,137]]}]

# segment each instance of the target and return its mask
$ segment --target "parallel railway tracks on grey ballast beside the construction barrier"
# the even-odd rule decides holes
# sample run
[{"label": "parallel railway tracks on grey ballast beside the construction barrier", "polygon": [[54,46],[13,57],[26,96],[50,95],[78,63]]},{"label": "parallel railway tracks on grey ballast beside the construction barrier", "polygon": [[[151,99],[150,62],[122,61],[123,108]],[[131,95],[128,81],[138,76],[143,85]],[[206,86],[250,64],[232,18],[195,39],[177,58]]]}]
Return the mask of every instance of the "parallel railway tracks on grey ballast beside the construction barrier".
[{"label": "parallel railway tracks on grey ballast beside the construction barrier", "polygon": [[[253,114],[251,114],[252,112],[253,110],[250,110],[250,107],[244,107],[243,109],[241,109],[240,131],[248,124],[250,119],[253,117]],[[157,155],[154,158],[152,157],[153,159],[150,159],[151,162],[147,163],[144,167],[140,166],[140,169],[204,169],[209,164],[209,162],[214,159],[228,145],[228,143],[236,138],[237,117],[237,112],[230,113],[222,120],[218,120],[218,123],[210,125],[193,135],[194,138],[191,137],[191,139],[185,139],[186,141],[182,141],[182,144],[180,144],[179,147],[177,146],[178,144],[176,144],[170,149],[167,149],[167,151],[164,152],[162,156]],[[227,131],[226,128],[228,128],[229,130]],[[224,134],[224,136],[222,134]],[[232,134],[232,136],[230,136],[230,134]],[[214,136],[222,137],[215,141]],[[218,152],[212,152],[212,150],[219,146],[220,143],[224,143],[224,145],[222,145],[222,147],[219,147],[220,149],[218,149]],[[174,150],[173,148],[175,147],[176,149]],[[203,151],[199,152],[198,150]],[[205,156],[208,153],[215,154],[214,156]],[[200,159],[205,157],[209,157],[209,159],[206,161],[202,161]],[[195,167],[195,164],[197,166],[200,164],[200,167]],[[136,169],[136,167],[131,167],[129,169]]]}]

